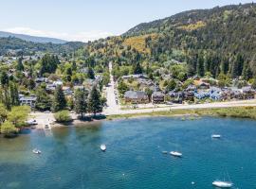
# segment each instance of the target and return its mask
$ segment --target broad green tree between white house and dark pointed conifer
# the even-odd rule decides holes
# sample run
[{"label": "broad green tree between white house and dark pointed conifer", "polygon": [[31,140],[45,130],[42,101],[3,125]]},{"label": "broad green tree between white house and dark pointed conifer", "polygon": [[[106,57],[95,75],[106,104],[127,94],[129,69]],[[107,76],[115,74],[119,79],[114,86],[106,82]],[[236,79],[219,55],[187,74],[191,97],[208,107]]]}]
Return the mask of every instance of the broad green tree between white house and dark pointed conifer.
[{"label": "broad green tree between white house and dark pointed conifer", "polygon": [[39,111],[50,111],[51,104],[52,101],[50,96],[46,94],[46,89],[43,87],[39,87],[36,90],[35,108]]}]

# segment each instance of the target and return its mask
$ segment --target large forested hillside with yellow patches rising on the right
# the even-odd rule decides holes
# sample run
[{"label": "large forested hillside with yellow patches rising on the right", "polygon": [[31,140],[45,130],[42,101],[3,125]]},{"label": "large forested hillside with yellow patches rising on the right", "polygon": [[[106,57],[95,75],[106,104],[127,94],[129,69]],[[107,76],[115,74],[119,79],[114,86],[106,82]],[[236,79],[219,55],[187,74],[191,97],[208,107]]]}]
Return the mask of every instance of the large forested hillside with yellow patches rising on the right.
[{"label": "large forested hillside with yellow patches rising on the right", "polygon": [[90,43],[84,53],[127,66],[121,70],[125,73],[138,62],[147,74],[155,67],[185,63],[186,77],[225,74],[249,79],[256,75],[255,34],[254,4],[197,9]]}]

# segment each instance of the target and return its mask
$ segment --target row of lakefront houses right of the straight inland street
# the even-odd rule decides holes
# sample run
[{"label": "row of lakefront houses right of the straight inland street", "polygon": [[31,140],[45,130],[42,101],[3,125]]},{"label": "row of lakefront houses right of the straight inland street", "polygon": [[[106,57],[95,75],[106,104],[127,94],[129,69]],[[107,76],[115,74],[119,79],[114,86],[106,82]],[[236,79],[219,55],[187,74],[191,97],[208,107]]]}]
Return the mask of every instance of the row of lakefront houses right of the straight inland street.
[{"label": "row of lakefront houses right of the straight inland street", "polygon": [[[166,102],[181,104],[184,101],[194,102],[195,100],[231,100],[231,99],[254,99],[255,90],[250,86],[238,89],[236,87],[219,88],[211,86],[210,83],[205,82],[203,79],[195,80],[194,83],[189,85],[185,90],[182,91],[171,91],[162,92],[157,85],[154,84],[145,75],[130,75],[122,77],[123,80],[136,79],[137,83],[142,85],[144,88],[150,88],[153,91],[152,95],[146,94],[143,90],[141,91],[127,91],[124,94],[124,100],[126,103],[132,104],[145,104],[152,102],[153,104],[163,104]],[[143,85],[145,84],[146,85]]]}]

